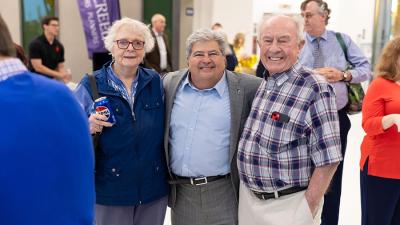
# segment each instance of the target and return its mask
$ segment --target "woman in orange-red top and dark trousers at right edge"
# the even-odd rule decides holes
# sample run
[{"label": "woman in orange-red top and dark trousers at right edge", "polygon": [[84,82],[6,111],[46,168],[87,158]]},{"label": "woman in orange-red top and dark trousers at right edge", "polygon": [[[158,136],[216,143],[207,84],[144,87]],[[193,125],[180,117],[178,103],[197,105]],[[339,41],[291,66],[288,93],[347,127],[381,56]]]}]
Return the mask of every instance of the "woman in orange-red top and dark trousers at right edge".
[{"label": "woman in orange-red top and dark trousers at right edge", "polygon": [[363,225],[400,224],[400,37],[384,48],[362,110]]}]

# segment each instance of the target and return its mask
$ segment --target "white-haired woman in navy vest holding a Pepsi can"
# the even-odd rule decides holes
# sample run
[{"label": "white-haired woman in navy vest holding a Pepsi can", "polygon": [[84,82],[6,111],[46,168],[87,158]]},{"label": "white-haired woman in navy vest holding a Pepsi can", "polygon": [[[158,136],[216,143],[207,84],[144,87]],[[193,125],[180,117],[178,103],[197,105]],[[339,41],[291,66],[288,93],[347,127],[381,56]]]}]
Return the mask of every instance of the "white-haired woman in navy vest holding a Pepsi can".
[{"label": "white-haired woman in navy vest holding a Pepsi can", "polygon": [[146,25],[123,18],[112,25],[104,44],[113,60],[93,75],[116,123],[93,113],[88,76],[75,91],[89,115],[91,133],[101,133],[95,149],[96,224],[162,225],[169,191],[163,89],[159,74],[139,66],[154,39]]}]

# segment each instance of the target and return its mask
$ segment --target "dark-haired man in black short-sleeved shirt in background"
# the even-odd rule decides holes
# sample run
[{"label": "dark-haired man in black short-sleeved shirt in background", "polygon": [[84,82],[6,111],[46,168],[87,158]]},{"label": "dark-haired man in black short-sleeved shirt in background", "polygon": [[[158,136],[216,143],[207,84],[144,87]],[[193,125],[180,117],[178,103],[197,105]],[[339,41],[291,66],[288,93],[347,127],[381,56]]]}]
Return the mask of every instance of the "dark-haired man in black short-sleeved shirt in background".
[{"label": "dark-haired man in black short-sleeved shirt in background", "polygon": [[68,83],[71,73],[64,66],[64,46],[57,40],[60,24],[55,16],[42,19],[43,34],[29,44],[29,69],[34,73]]}]

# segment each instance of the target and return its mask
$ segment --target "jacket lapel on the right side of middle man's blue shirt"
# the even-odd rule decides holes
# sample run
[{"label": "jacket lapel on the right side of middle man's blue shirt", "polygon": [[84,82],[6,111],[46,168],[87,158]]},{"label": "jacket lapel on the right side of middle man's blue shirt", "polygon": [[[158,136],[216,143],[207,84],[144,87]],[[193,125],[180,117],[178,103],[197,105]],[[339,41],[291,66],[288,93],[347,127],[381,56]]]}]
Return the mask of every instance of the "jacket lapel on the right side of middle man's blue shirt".
[{"label": "jacket lapel on the right side of middle man's blue shirt", "polygon": [[239,86],[240,77],[230,71],[226,71],[228,88],[229,88],[229,101],[231,103],[231,131],[229,141],[229,161],[231,162],[233,156],[236,154],[237,140],[239,139],[240,119],[242,115],[244,90]]}]

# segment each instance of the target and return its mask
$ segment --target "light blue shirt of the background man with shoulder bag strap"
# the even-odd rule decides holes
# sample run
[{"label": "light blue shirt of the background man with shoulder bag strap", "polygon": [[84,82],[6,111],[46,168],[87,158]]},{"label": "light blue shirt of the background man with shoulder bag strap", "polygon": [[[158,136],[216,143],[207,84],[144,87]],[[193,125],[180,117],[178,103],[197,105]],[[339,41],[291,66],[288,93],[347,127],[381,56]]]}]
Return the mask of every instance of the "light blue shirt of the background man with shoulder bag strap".
[{"label": "light blue shirt of the background man with shoulder bag strap", "polygon": [[[341,33],[343,41],[347,46],[347,56],[349,61],[353,64],[350,73],[353,77],[351,83],[360,83],[366,81],[371,77],[371,65],[368,59],[364,56],[361,49],[351,40],[351,38]],[[305,44],[301,50],[299,61],[304,66],[313,69],[314,64],[314,41],[317,37],[312,37],[305,33]],[[336,33],[331,30],[326,30],[320,39],[320,48],[324,57],[324,67],[334,67],[340,71],[345,71],[347,61],[344,52],[336,39]],[[337,108],[342,109],[348,102],[347,87],[345,82],[330,83],[336,93]]]}]

